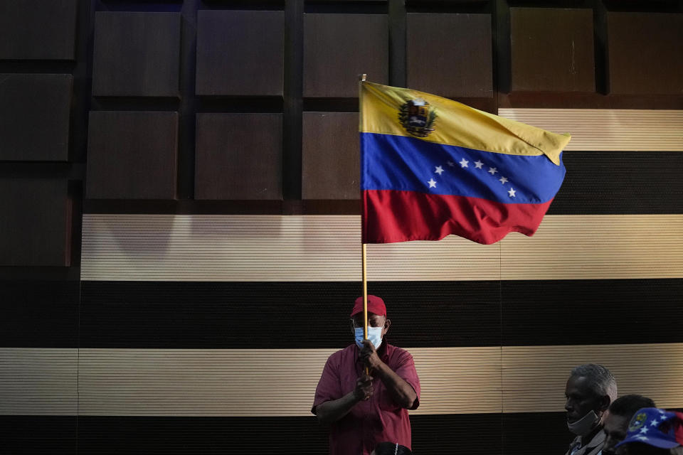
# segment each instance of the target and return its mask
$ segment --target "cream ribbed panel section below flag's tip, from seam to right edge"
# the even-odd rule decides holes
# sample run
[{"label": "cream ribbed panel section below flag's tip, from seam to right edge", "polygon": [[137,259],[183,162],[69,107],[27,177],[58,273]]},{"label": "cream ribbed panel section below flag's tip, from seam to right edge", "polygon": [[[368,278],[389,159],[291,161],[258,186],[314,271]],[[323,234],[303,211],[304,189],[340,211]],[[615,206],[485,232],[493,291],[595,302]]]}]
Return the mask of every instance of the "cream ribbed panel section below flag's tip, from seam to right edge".
[{"label": "cream ribbed panel section below flag's tip, from seam to right edge", "polygon": [[554,215],[501,242],[502,279],[683,276],[683,215]]}]

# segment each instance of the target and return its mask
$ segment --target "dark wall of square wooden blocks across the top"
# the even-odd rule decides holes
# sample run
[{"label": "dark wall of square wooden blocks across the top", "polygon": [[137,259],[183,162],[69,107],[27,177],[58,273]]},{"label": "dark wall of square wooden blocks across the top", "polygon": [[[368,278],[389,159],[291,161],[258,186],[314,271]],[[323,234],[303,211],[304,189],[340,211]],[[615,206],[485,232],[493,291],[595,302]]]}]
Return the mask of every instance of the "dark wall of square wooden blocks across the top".
[{"label": "dark wall of square wooden blocks across the top", "polygon": [[489,112],[681,109],[682,4],[0,1],[0,267],[77,274],[83,203],[357,213],[358,73]]}]

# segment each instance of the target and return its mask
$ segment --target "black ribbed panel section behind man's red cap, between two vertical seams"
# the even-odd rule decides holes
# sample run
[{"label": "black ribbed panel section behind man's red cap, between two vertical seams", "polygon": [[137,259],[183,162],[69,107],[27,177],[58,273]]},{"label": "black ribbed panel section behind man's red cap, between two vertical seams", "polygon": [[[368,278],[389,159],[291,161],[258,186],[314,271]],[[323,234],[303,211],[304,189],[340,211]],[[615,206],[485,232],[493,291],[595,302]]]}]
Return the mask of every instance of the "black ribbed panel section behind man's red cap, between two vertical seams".
[{"label": "black ribbed panel section behind man's red cap, between two vertical seams", "polygon": [[[356,282],[83,282],[84,348],[342,348]],[[499,346],[498,282],[373,282],[398,346]]]}]

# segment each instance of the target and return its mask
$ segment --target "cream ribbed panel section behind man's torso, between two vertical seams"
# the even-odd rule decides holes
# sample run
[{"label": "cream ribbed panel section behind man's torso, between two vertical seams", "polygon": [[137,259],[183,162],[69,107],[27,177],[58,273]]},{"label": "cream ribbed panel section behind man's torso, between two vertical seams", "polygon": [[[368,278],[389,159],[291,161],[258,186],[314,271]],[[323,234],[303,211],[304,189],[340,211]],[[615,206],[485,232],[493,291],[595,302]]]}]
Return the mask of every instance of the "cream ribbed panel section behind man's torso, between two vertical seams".
[{"label": "cream ribbed panel section behind man's torso, between two vertical seams", "polygon": [[[310,415],[334,350],[80,351],[80,413]],[[500,412],[500,349],[413,349],[423,385],[417,413]]]}]

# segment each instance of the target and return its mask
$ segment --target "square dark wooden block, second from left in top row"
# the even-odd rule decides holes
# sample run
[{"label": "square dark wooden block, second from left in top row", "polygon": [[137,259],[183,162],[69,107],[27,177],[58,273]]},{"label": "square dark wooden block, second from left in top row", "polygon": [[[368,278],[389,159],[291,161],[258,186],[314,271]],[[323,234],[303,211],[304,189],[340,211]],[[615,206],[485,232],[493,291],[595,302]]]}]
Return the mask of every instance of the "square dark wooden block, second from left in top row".
[{"label": "square dark wooden block, second from left in top row", "polygon": [[180,14],[95,14],[92,95],[179,94]]}]

